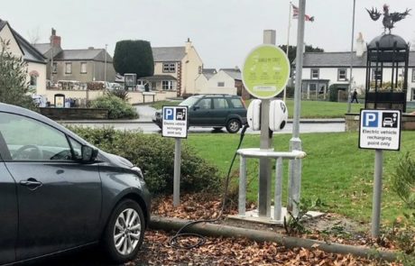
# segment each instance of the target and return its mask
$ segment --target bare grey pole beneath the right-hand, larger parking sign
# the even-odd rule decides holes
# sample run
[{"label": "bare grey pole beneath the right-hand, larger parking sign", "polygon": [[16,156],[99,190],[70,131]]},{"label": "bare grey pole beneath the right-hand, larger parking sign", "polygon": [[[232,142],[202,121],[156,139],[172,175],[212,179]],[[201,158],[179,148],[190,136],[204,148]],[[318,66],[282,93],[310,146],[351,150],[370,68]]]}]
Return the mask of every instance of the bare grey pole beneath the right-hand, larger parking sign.
[{"label": "bare grey pole beneath the right-hand, larger parking sign", "polygon": [[383,150],[374,151],[374,199],[372,207],[372,237],[379,237],[381,222]]}]

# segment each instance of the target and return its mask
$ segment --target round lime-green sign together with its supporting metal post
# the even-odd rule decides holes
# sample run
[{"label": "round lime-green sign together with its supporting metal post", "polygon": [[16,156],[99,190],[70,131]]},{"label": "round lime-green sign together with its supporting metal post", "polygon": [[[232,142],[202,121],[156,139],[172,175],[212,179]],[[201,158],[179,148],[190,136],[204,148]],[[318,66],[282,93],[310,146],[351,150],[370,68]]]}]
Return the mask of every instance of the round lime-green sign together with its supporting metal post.
[{"label": "round lime-green sign together with its supporting metal post", "polygon": [[[272,132],[269,129],[268,117],[270,99],[281,93],[287,86],[290,71],[290,60],[287,55],[272,44],[257,46],[244,61],[242,71],[244,87],[252,96],[262,99],[260,142],[262,150],[272,149]],[[271,215],[271,170],[270,160],[261,158],[258,195],[259,216]]]}]

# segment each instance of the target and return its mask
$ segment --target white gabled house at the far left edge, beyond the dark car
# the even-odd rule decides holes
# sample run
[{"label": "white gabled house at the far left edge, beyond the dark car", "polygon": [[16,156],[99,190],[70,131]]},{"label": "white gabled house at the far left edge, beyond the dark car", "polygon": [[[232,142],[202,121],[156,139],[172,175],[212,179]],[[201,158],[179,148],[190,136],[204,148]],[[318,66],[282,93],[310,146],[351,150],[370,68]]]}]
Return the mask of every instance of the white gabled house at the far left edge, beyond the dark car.
[{"label": "white gabled house at the far left edge, beyond the dark car", "polygon": [[1,19],[0,38],[3,41],[10,41],[7,49],[27,64],[27,82],[30,87],[36,91],[36,94],[44,95],[46,92],[46,58],[29,41],[24,40],[19,33],[15,32],[9,23]]}]

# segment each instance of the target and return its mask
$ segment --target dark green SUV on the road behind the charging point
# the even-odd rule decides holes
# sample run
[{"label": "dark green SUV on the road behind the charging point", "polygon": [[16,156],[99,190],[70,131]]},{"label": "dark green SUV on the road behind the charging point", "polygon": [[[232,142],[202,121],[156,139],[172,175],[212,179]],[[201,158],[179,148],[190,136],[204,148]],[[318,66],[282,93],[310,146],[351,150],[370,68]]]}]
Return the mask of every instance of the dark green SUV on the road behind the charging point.
[{"label": "dark green SUV on the road behind the charging point", "polygon": [[[226,127],[228,133],[237,133],[246,124],[246,108],[240,96],[190,96],[179,105],[189,106],[189,126]],[[162,111],[156,111],[152,122],[161,128]]]}]

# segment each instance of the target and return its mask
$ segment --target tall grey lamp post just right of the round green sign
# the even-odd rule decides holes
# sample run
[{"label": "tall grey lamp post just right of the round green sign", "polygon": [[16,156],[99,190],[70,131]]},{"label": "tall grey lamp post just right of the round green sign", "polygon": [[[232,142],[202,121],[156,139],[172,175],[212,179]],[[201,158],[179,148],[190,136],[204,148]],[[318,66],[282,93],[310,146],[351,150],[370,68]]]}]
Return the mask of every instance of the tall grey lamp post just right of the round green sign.
[{"label": "tall grey lamp post just right of the round green sign", "polygon": [[[299,3],[299,25],[297,31],[297,61],[295,68],[295,92],[294,92],[294,115],[292,121],[292,138],[290,140],[291,151],[301,151],[300,140],[300,112],[301,112],[301,87],[302,87],[302,62],[304,46],[304,17],[306,15],[306,0],[300,0]],[[300,187],[301,187],[301,160],[291,160],[290,162],[290,178],[287,210],[293,216],[299,214],[298,204],[300,203]]]}]

